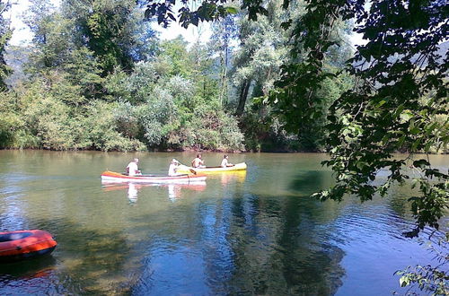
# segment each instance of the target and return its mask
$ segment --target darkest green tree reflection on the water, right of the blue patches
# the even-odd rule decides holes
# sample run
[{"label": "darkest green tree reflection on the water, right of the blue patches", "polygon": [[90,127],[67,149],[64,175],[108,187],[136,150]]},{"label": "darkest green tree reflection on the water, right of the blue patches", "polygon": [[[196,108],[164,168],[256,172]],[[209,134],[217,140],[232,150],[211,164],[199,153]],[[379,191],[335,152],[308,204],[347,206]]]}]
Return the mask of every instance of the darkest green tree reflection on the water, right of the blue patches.
[{"label": "darkest green tree reflection on the water, right of the blue patches", "polygon": [[344,271],[339,262],[344,252],[326,241],[325,231],[315,219],[318,211],[313,201],[295,197],[285,201],[277,241],[283,249],[281,260],[290,292],[333,294],[342,283]]}]

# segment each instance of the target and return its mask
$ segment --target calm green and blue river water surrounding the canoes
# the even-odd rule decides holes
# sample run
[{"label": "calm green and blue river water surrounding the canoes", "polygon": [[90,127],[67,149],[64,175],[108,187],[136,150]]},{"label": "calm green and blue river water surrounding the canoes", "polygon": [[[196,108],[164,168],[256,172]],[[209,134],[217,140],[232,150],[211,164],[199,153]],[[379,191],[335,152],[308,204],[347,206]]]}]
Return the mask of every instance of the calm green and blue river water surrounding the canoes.
[{"label": "calm green and blue river water surrounding the canoes", "polygon": [[[195,185],[101,184],[134,157],[166,174],[172,158],[194,156],[0,151],[0,231],[58,242],[48,257],[1,265],[0,294],[386,295],[405,293],[395,271],[432,262],[401,236],[413,226],[409,189],[364,204],[310,198],[332,184],[324,154],[231,154],[246,173]],[[207,165],[222,157],[203,153]],[[447,170],[449,156],[431,161]]]}]

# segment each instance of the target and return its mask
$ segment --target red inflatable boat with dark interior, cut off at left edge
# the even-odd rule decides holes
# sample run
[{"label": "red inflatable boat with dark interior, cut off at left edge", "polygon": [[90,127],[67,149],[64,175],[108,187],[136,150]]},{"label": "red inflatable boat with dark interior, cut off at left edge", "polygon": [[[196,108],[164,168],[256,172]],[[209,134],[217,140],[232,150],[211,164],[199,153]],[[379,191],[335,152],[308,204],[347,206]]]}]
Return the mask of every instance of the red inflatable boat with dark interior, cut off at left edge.
[{"label": "red inflatable boat with dark interior, cut off at left edge", "polygon": [[0,232],[0,262],[12,262],[51,253],[56,240],[47,231]]}]

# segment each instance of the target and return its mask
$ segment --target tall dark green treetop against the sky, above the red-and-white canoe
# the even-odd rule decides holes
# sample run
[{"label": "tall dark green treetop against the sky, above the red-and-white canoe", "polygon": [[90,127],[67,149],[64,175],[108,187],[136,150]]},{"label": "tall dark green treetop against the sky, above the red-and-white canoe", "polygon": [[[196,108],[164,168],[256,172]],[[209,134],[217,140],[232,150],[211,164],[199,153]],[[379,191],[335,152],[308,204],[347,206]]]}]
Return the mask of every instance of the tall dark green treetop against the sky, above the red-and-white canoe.
[{"label": "tall dark green treetop against the sky, above the red-and-white canoe", "polygon": [[120,66],[131,72],[134,62],[154,56],[155,33],[135,1],[66,0],[65,18],[73,20],[75,43],[93,52],[104,77]]}]

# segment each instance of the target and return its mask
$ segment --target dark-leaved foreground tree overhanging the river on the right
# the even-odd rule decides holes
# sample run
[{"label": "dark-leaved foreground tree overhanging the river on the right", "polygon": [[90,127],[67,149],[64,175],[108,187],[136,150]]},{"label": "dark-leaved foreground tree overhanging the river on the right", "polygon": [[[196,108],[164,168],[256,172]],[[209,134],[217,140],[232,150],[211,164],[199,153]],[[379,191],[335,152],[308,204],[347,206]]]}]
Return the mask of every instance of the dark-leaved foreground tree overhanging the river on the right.
[{"label": "dark-leaved foreground tree overhanging the river on the right", "polygon": [[[325,141],[330,161],[323,163],[334,170],[337,184],[315,196],[341,200],[353,194],[365,201],[376,193],[386,195],[396,182],[416,186],[419,194],[409,198],[416,228],[406,233],[415,237],[426,225],[437,230],[449,205],[448,175],[425,158],[409,161],[415,153],[429,152],[432,147],[446,149],[448,60],[439,54],[439,43],[447,38],[448,12],[444,1],[377,1],[369,13],[364,6],[365,1],[308,2],[293,36],[303,42],[308,57],[283,68],[277,84],[280,89],[272,93],[271,102],[298,109],[286,111],[290,114],[286,120],[293,126],[298,125],[294,114],[301,114],[304,121],[320,115],[310,99],[325,79],[335,76],[323,67],[328,49],[335,44],[330,31],[339,20],[356,18],[356,30],[368,43],[348,59],[347,71],[357,83],[332,104],[327,126],[330,136]],[[302,107],[305,112],[299,110]],[[437,121],[441,116],[445,118]],[[397,151],[410,152],[410,156],[393,159]],[[418,177],[410,174],[410,165]],[[374,179],[382,169],[390,170],[390,175],[376,185]],[[406,183],[408,178],[413,182]],[[443,279],[447,292],[444,271],[429,268],[423,274],[430,282]],[[420,279],[410,278],[401,284]]]}]

